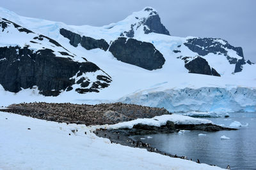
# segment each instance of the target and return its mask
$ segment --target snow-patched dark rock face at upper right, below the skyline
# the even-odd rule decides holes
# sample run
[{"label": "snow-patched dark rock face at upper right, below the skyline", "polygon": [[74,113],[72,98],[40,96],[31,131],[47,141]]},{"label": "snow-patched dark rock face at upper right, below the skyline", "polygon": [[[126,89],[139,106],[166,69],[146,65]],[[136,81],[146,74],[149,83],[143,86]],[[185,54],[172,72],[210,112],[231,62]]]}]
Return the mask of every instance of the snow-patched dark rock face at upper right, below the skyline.
[{"label": "snow-patched dark rock face at upper right, below the skyline", "polygon": [[[198,55],[205,56],[208,53],[223,54],[226,56],[230,64],[236,64],[234,73],[242,71],[244,61],[243,49],[241,47],[234,47],[230,45],[227,41],[218,38],[192,38],[188,39],[184,45],[188,46],[189,50],[198,53]],[[242,57],[237,60],[232,56],[228,55],[227,50],[236,51],[237,55]]]}]

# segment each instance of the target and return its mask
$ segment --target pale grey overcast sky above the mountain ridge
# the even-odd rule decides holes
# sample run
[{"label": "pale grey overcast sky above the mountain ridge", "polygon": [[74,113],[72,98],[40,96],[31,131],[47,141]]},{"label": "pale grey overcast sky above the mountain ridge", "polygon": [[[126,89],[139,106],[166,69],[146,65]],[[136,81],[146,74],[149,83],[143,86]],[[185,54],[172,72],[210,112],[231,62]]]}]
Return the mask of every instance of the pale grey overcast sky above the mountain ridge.
[{"label": "pale grey overcast sky above the mountain ridge", "polygon": [[1,0],[0,6],[26,17],[95,26],[152,6],[173,36],[223,38],[256,62],[255,0]]}]

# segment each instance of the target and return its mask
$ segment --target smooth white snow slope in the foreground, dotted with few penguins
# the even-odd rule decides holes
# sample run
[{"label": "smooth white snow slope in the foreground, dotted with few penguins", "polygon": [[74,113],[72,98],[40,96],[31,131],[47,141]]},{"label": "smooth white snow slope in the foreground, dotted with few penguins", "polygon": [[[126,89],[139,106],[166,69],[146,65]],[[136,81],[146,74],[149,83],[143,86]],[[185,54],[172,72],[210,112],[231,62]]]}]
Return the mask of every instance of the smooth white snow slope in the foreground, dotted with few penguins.
[{"label": "smooth white snow slope in the foreground, dotted with few penguins", "polygon": [[221,169],[111,144],[85,125],[12,113],[0,112],[0,136],[0,169]]}]

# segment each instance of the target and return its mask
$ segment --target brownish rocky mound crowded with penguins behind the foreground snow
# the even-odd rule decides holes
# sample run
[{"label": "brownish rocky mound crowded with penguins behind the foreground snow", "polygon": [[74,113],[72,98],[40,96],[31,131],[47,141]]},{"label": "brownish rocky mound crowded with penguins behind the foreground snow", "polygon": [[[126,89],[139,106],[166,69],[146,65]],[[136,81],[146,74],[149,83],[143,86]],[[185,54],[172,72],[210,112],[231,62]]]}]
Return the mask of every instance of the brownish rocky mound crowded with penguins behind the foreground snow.
[{"label": "brownish rocky mound crowded with penguins behind the foreground snow", "polygon": [[67,124],[117,124],[136,118],[152,118],[171,114],[164,108],[151,108],[136,104],[71,104],[71,103],[20,103],[1,110],[29,117],[66,122]]}]

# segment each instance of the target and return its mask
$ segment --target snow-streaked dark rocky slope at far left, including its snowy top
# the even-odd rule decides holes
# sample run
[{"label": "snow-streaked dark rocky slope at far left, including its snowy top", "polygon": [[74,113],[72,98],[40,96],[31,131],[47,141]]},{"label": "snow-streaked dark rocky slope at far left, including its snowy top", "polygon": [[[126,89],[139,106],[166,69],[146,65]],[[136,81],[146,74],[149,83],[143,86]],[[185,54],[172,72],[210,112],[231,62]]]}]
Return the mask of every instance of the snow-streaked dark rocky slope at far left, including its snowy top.
[{"label": "snow-streaked dark rocky slope at far left, including its snowy top", "polygon": [[57,41],[4,18],[0,27],[0,84],[4,90],[17,93],[38,87],[44,96],[58,96],[74,88],[86,93],[109,86],[108,74],[85,58],[77,62],[76,54]]}]

